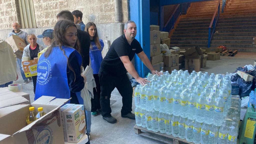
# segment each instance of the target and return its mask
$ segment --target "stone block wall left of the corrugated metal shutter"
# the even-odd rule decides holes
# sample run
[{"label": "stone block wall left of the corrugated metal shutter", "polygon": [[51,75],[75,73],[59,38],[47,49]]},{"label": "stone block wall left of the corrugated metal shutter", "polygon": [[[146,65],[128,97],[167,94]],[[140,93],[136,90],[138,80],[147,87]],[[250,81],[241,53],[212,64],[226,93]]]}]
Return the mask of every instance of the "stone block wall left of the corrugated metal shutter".
[{"label": "stone block wall left of the corrugated metal shutter", "polygon": [[18,20],[16,0],[0,0],[0,29],[12,28],[13,22],[20,22]]}]

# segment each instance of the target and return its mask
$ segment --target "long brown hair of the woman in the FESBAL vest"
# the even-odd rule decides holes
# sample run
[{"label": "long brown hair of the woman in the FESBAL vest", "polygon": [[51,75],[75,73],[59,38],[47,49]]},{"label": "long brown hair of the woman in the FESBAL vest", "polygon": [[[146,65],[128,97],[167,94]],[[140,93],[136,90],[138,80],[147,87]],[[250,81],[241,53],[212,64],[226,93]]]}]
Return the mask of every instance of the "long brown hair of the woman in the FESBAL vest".
[{"label": "long brown hair of the woman in the FESBAL vest", "polygon": [[[52,44],[49,46],[49,48],[45,52],[45,57],[49,57],[49,55],[52,52],[52,48],[59,46],[60,50],[63,52],[64,56],[67,58],[67,66],[68,68],[74,73],[75,80],[76,80],[76,74],[73,68],[69,65],[68,57],[65,54],[65,50],[62,48],[62,46],[67,46],[70,47],[67,43],[67,40],[65,38],[65,32],[69,27],[75,27],[76,25],[71,22],[70,20],[59,20],[55,26],[54,26],[54,32],[53,32],[53,39],[52,39]],[[76,49],[78,52],[80,52],[80,45],[79,45],[79,40],[77,38],[76,44],[74,46],[74,49]],[[75,81],[74,80],[74,81]]]}]

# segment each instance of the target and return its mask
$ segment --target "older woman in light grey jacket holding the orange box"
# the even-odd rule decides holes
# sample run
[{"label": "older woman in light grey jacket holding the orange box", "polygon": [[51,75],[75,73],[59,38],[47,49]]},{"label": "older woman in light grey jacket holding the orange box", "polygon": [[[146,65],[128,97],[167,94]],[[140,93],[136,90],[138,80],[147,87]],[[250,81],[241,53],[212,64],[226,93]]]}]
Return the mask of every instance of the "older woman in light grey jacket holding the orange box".
[{"label": "older woman in light grey jacket holding the orange box", "polygon": [[[22,61],[24,57],[30,57],[31,60],[37,57],[37,54],[44,49],[43,46],[36,43],[36,36],[34,34],[28,34],[27,36],[29,44],[24,48]],[[33,86],[34,86],[34,94],[36,92],[36,80],[37,76],[32,77]]]}]

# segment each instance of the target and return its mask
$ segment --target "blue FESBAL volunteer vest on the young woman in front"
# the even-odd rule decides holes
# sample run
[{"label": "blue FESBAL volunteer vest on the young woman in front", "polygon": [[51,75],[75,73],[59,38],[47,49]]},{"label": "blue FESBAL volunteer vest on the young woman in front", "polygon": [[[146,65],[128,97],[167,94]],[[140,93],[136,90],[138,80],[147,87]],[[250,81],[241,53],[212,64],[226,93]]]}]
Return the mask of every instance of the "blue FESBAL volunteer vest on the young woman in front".
[{"label": "blue FESBAL volunteer vest on the young woman in front", "polygon": [[[67,57],[75,49],[62,46]],[[79,65],[82,63],[81,55],[76,52]],[[83,104],[80,92],[76,92],[78,101]],[[70,98],[70,89],[67,79],[67,58],[59,47],[52,48],[51,54],[45,58],[44,54],[38,60],[37,65],[37,82],[35,100],[41,96],[53,96],[56,98]]]}]

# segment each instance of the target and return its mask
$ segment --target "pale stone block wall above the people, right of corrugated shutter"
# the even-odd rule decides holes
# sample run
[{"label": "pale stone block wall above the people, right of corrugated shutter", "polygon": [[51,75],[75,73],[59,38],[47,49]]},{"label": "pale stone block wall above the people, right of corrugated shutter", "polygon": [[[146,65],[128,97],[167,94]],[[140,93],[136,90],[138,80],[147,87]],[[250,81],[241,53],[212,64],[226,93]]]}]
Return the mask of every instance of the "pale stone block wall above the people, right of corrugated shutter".
[{"label": "pale stone block wall above the people, right of corrugated shutter", "polygon": [[[54,26],[61,10],[80,10],[83,22],[115,23],[114,0],[34,0],[37,27]],[[129,19],[127,0],[120,0],[122,22]]]}]

